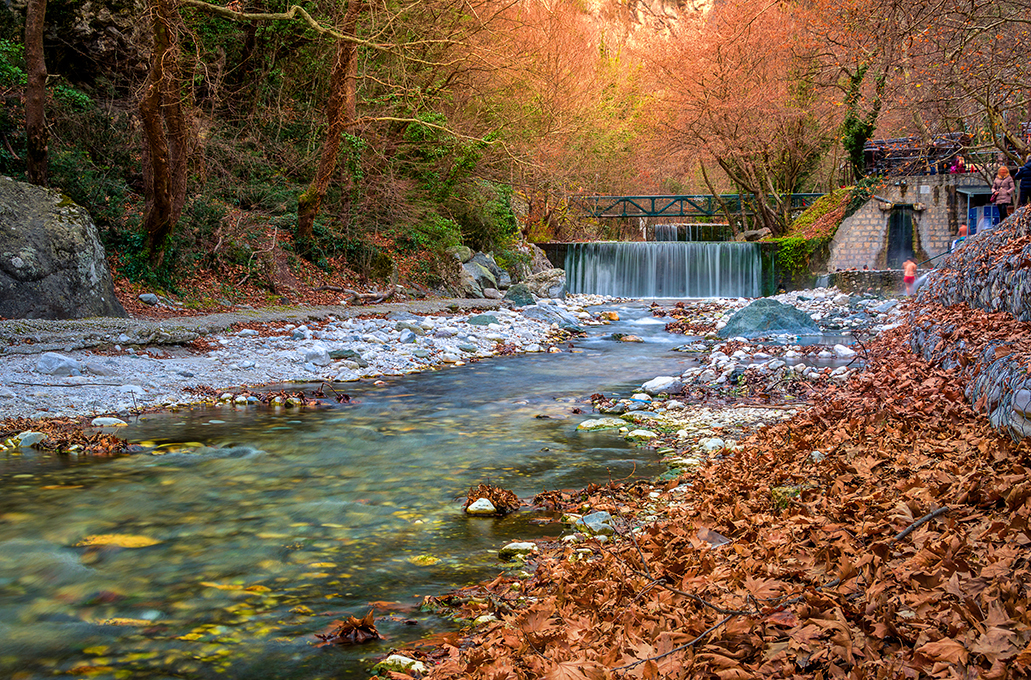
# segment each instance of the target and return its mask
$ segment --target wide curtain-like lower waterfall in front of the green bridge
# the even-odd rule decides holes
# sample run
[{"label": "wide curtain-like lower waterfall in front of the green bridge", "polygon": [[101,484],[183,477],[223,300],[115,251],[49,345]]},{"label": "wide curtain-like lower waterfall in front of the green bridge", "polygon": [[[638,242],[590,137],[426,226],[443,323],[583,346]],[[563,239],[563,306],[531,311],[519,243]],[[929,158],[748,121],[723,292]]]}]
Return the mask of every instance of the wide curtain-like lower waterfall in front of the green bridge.
[{"label": "wide curtain-like lower waterfall in front of the green bridge", "polygon": [[758,298],[758,243],[570,243],[566,287],[620,298]]}]

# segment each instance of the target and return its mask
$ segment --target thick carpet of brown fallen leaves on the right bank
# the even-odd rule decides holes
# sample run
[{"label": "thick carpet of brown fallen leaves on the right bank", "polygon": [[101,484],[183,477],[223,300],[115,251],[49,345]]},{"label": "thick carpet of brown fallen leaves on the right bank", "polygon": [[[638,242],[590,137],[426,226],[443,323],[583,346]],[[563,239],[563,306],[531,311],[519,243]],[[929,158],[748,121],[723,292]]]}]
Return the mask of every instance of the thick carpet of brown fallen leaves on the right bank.
[{"label": "thick carpet of brown fallen leaves on the right bank", "polygon": [[440,679],[1025,676],[1028,445],[907,336],[883,334],[866,372],[651,498],[595,487],[596,507],[661,518],[541,542],[522,575],[436,600],[497,620],[407,653]]}]

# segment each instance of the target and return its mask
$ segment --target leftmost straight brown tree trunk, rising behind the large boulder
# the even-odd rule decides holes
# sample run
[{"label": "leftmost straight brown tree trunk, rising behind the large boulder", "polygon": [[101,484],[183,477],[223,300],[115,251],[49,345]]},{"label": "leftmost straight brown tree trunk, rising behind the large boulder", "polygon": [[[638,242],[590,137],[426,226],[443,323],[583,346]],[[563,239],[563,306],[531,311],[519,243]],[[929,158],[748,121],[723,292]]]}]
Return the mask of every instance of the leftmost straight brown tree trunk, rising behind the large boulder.
[{"label": "leftmost straight brown tree trunk, rising behind the large boulder", "polygon": [[46,158],[46,63],[43,61],[43,20],[46,0],[29,0],[25,10],[26,165],[29,181],[45,186],[48,182]]}]

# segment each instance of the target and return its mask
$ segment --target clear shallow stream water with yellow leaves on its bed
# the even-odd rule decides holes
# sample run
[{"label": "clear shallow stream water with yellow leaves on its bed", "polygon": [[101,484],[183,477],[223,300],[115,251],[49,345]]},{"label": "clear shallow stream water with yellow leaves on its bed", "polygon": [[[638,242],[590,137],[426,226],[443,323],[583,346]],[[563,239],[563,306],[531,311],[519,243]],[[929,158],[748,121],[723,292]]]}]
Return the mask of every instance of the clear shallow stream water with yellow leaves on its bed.
[{"label": "clear shallow stream water with yellow leaves on its bed", "polygon": [[[194,409],[120,432],[165,455],[0,461],[0,676],[367,677],[366,659],[447,628],[413,610],[423,596],[493,576],[510,540],[558,533],[526,512],[466,517],[469,486],[529,497],[661,472],[653,451],[575,432],[592,393],[692,365],[646,307],[617,309],[629,320],[560,354],[346,385],[351,405]],[[76,547],[95,535],[158,542]],[[395,603],[377,610],[387,641],[313,646],[372,602]]]}]

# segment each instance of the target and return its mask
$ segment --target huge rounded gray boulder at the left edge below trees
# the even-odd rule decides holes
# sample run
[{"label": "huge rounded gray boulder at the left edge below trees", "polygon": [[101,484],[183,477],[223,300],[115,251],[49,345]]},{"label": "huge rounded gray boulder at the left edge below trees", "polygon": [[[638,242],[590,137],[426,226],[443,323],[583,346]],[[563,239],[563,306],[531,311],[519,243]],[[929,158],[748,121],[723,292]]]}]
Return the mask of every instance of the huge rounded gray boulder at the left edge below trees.
[{"label": "huge rounded gray boulder at the left edge below trees", "polygon": [[128,316],[89,213],[9,177],[0,177],[0,316]]}]

